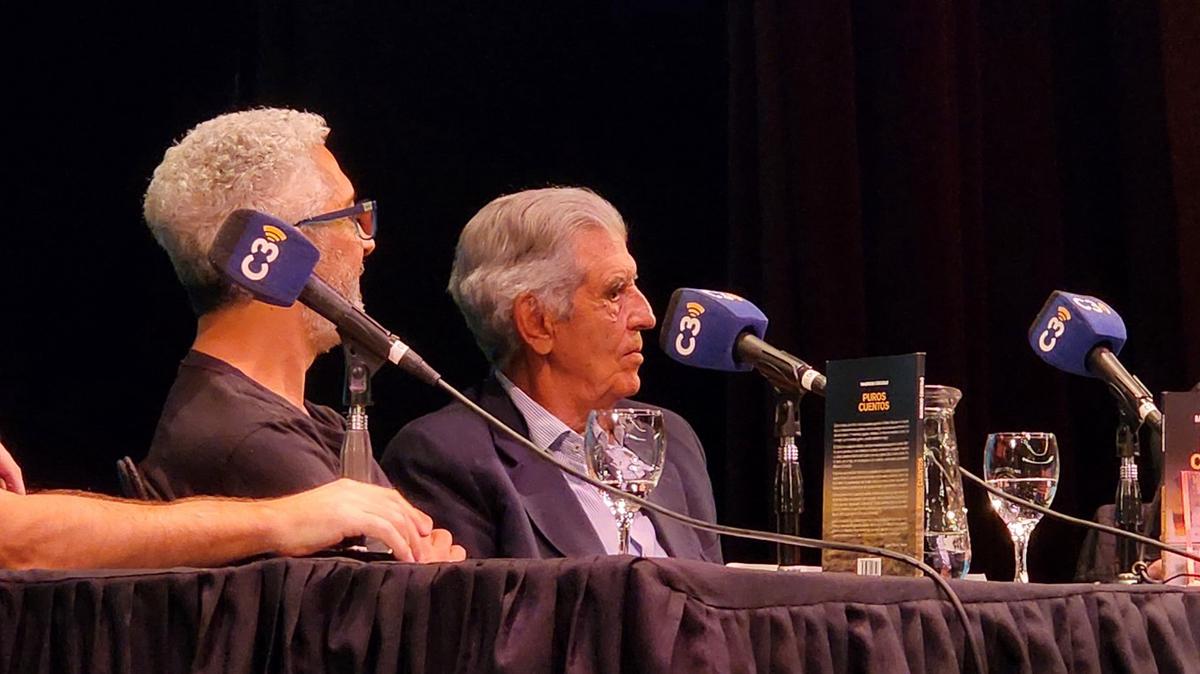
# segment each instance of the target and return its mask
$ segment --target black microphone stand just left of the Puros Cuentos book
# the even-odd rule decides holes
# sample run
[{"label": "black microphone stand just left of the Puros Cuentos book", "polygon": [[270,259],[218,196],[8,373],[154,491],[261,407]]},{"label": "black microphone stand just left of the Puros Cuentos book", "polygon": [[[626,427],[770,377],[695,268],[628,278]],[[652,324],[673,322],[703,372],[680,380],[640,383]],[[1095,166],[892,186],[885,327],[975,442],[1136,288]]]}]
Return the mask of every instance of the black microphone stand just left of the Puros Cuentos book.
[{"label": "black microphone stand just left of the Puros Cuentos book", "polygon": [[[796,439],[800,437],[800,399],[797,393],[773,387],[775,393],[775,439],[778,463],[775,465],[775,531],[787,536],[800,535],[800,514],[804,512],[804,476],[800,474],[800,450]],[[799,566],[800,548],[776,544],[776,561],[780,567]]]}]

